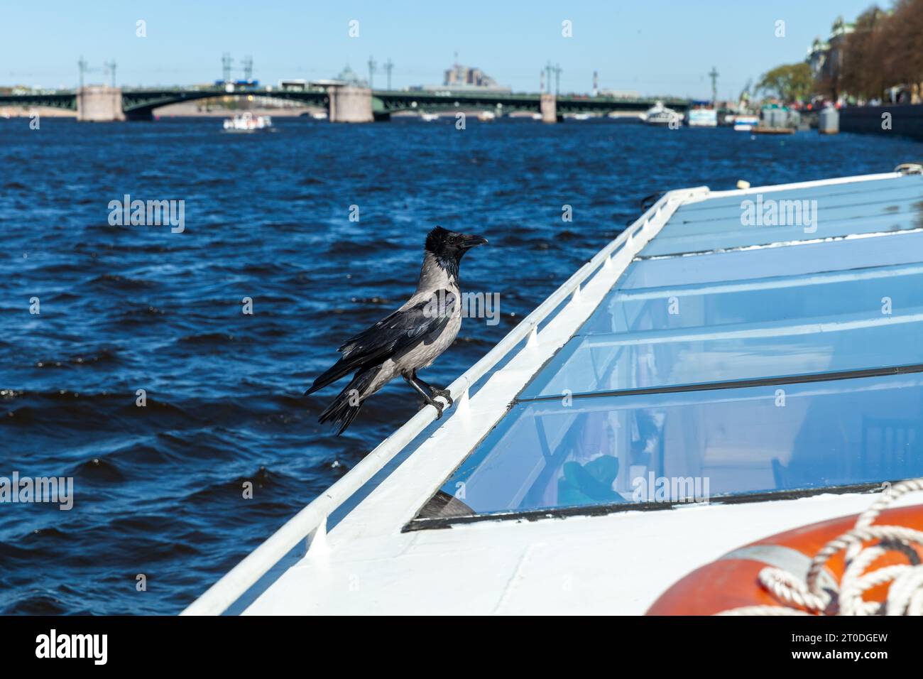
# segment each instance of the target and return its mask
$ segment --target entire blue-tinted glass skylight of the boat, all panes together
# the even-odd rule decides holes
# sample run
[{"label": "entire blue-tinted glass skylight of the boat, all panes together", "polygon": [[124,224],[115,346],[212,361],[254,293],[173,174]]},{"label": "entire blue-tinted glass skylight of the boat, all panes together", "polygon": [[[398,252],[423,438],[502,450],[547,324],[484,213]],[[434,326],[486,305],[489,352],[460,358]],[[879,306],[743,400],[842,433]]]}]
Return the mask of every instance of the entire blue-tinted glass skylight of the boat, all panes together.
[{"label": "entire blue-tinted glass skylight of the boat, all panes together", "polygon": [[923,182],[772,195],[817,200],[821,242],[681,207],[405,529],[923,475],[923,234],[888,235],[923,227]]}]

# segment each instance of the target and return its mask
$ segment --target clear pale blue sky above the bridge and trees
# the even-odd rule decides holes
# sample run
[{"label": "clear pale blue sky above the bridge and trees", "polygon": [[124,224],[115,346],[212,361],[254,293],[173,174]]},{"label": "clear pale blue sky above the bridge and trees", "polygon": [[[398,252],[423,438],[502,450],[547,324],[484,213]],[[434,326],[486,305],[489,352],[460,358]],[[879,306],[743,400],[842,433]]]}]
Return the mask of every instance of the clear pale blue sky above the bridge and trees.
[{"label": "clear pale blue sky above the bridge and trees", "polygon": [[[210,82],[221,78],[221,56],[253,55],[254,77],[330,78],[349,64],[367,78],[366,62],[394,63],[394,87],[441,82],[459,61],[481,67],[515,91],[536,91],[551,60],[562,68],[562,91],[600,87],[642,94],[710,96],[717,67],[718,95],[736,97],[748,79],[804,59],[815,36],[833,19],[853,20],[871,0],[0,0],[0,84],[73,87],[77,61],[88,80],[107,80],[102,64],[118,64],[125,85]],[[882,6],[890,6],[883,0]],[[136,21],[147,22],[137,38]],[[358,38],[348,36],[350,19]],[[573,37],[561,22],[573,22]],[[785,37],[774,35],[785,21]],[[382,70],[376,87],[385,84]]]}]

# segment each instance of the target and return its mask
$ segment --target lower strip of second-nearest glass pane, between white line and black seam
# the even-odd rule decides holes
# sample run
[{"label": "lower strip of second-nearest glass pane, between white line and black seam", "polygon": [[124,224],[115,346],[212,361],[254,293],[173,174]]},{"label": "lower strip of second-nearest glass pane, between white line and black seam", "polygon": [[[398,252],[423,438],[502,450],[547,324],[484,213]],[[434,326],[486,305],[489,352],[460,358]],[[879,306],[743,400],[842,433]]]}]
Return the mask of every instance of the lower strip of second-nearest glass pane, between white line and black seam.
[{"label": "lower strip of second-nearest glass pane, between white line and black seam", "polygon": [[826,331],[819,323],[794,329],[728,326],[722,333],[634,333],[629,339],[578,336],[520,398],[923,364],[923,308],[917,312],[916,321],[897,322],[879,311],[876,324],[846,330],[831,322]]}]

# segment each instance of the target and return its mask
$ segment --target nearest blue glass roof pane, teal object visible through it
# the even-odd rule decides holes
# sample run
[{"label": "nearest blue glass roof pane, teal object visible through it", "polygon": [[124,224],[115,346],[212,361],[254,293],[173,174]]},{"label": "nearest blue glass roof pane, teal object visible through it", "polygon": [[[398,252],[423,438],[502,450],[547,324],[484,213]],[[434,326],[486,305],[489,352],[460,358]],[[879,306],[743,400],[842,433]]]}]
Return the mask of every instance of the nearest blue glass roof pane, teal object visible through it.
[{"label": "nearest blue glass roof pane, teal object visible through it", "polygon": [[541,401],[441,490],[456,515],[715,499],[920,476],[921,443],[919,374]]}]

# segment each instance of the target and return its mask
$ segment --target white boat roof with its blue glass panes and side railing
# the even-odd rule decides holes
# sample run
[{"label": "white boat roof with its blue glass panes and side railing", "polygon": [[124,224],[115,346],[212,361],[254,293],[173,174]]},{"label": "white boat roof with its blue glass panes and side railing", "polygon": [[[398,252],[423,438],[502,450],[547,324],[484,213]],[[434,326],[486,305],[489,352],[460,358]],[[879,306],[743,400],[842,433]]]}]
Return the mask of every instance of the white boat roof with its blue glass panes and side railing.
[{"label": "white boat roof with its blue glass panes and side railing", "polygon": [[186,613],[644,612],[923,475],[921,284],[919,174],[670,191]]}]

